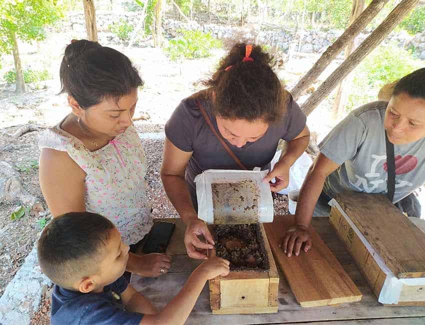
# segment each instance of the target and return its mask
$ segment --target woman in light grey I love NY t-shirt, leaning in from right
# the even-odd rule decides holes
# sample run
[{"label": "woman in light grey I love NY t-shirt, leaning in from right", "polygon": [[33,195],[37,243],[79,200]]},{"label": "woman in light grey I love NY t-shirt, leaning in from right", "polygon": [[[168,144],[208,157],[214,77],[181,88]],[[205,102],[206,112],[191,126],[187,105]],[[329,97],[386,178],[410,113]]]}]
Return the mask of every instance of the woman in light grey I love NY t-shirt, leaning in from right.
[{"label": "woman in light grey I love NY t-shirt, leaning in from right", "polygon": [[308,225],[323,203],[344,190],[386,193],[386,131],[394,144],[393,203],[425,182],[425,68],[401,78],[388,102],[374,101],[348,114],[319,144],[320,153],[298,195],[296,226],[282,249],[288,256],[311,246]]}]

